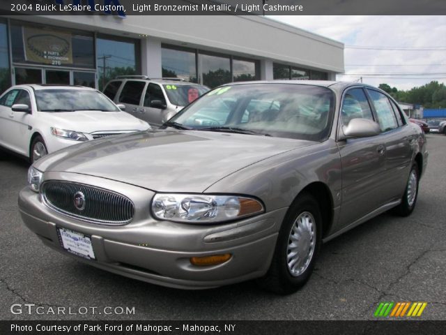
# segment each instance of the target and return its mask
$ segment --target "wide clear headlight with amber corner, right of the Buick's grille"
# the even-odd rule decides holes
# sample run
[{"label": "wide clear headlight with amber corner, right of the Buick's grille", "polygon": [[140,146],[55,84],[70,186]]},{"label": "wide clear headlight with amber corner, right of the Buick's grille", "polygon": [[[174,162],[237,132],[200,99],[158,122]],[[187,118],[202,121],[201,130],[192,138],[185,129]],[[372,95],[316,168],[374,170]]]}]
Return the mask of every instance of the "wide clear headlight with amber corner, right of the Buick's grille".
[{"label": "wide clear headlight with amber corner, right of the Buick's grille", "polygon": [[177,222],[218,223],[263,213],[258,200],[237,195],[156,194],[155,218]]}]

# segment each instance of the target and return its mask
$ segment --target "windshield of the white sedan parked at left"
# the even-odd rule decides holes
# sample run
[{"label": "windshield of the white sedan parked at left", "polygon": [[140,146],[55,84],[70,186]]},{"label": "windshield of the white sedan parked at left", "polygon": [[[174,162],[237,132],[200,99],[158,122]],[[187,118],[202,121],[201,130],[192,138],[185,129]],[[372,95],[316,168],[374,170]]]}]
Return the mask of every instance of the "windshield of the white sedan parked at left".
[{"label": "windshield of the white sedan parked at left", "polygon": [[87,89],[39,89],[36,90],[36,103],[40,112],[119,111],[102,93]]}]

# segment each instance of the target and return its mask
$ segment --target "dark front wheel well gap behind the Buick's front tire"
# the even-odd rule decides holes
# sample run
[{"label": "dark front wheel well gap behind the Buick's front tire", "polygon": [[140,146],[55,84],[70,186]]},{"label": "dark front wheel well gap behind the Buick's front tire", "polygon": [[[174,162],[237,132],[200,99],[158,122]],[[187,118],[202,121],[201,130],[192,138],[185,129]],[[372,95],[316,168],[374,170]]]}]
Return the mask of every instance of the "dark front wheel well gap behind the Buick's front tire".
[{"label": "dark front wheel well gap behind the Buick's front tire", "polygon": [[327,185],[321,183],[320,181],[316,181],[305,186],[301,193],[302,192],[311,194],[318,202],[319,207],[321,207],[323,221],[322,237],[325,237],[325,234],[327,234],[330,230],[333,221],[333,200],[330,189]]}]

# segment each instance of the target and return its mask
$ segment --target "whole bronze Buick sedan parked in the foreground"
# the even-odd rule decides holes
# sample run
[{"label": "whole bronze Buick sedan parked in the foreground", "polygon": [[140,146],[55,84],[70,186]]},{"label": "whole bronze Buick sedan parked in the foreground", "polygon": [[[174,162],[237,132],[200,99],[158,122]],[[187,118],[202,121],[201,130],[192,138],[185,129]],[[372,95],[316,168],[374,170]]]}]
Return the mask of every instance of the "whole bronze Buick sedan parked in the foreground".
[{"label": "whole bronze Buick sedan parked in the foreground", "polygon": [[175,288],[259,278],[293,292],[321,241],[417,200],[427,151],[383,91],[341,82],[228,84],[157,131],[42,158],[19,204],[48,246]]}]

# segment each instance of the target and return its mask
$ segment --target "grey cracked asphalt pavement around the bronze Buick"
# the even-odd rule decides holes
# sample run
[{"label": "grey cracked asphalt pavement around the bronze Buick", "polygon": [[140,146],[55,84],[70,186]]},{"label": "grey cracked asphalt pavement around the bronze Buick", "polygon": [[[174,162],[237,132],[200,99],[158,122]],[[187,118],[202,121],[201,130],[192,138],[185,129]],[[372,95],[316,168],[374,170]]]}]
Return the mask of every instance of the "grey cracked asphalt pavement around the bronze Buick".
[{"label": "grey cracked asphalt pavement around the bronze Buick", "polygon": [[[323,245],[309,283],[293,295],[253,282],[204,291],[163,288],[110,274],[43,246],[23,225],[17,193],[29,164],[0,151],[2,320],[368,320],[381,301],[426,301],[422,319],[446,320],[446,136],[427,135],[429,164],[408,218],[383,214]],[[10,312],[12,304],[40,311]],[[79,307],[96,313],[75,313]],[[104,307],[134,314],[105,315]],[[91,311],[91,309],[90,309]],[[118,311],[121,311],[120,309]]]}]

